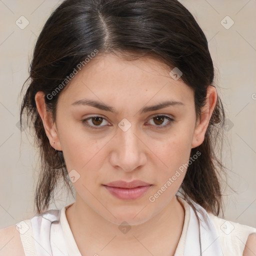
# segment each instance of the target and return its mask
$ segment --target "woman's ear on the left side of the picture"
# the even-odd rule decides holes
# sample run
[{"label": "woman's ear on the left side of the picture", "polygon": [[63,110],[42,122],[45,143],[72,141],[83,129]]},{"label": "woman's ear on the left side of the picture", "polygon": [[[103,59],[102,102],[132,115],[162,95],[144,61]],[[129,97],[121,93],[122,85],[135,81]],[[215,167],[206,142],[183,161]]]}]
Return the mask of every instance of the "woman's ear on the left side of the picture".
[{"label": "woman's ear on the left side of the picture", "polygon": [[43,127],[45,133],[49,139],[50,145],[57,150],[62,150],[58,132],[56,128],[55,122],[53,123],[52,113],[46,110],[46,104],[44,101],[44,93],[42,91],[38,91],[35,94],[35,104],[37,111],[42,119]]}]

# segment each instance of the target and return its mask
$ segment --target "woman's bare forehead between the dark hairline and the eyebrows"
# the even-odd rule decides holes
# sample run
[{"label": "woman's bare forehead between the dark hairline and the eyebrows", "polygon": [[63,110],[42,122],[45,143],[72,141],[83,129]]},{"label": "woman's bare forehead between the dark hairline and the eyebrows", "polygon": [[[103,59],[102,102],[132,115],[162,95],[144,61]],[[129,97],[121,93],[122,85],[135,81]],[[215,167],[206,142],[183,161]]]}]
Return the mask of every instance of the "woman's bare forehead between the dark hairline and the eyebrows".
[{"label": "woman's bare forehead between the dark hairline and the eyebrows", "polygon": [[108,103],[119,101],[127,106],[149,100],[159,102],[161,98],[192,102],[192,89],[181,79],[174,80],[170,70],[152,57],[126,60],[114,54],[98,54],[71,79],[60,98],[68,104],[94,98]]}]

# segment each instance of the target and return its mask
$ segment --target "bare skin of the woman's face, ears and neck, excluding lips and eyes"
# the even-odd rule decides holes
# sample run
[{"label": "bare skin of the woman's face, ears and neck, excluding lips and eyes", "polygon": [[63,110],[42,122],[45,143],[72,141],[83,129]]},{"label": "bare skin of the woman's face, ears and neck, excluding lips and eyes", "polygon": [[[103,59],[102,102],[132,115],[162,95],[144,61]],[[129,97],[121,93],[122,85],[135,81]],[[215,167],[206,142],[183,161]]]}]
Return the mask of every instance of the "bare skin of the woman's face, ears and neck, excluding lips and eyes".
[{"label": "bare skin of the woman's face, ears and neck, excluding lips and eyes", "polygon": [[[185,171],[154,202],[148,197],[189,160],[191,148],[202,143],[217,94],[208,86],[206,105],[196,121],[192,89],[181,79],[172,79],[170,70],[148,57],[127,61],[113,54],[98,54],[61,91],[56,122],[46,111],[44,94],[35,96],[50,144],[63,151],[67,171],[75,169],[80,175],[73,183],[76,199],[66,217],[82,255],[121,252],[125,256],[132,251],[132,255],[162,256],[175,252],[184,221],[184,209],[175,193]],[[72,105],[84,98],[110,105],[118,113]],[[183,105],[139,111],[170,99]],[[101,122],[87,120],[99,129],[82,123],[91,115],[105,118]],[[160,122],[152,118],[155,115],[174,121],[165,118]],[[123,118],[131,123],[126,131],[118,126]],[[159,126],[163,128],[157,129]],[[118,199],[102,185],[134,179],[152,184],[134,200]],[[131,227],[125,234],[118,229],[123,221]]]}]

